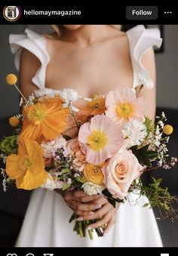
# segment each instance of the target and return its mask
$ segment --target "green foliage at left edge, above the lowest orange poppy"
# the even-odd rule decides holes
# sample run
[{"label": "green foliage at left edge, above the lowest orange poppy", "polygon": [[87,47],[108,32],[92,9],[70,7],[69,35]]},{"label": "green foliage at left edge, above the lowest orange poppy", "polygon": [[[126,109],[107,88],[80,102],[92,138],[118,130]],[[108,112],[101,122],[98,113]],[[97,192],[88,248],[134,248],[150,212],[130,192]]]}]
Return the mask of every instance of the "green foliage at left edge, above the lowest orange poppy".
[{"label": "green foliage at left edge, above the lowest orange poppy", "polygon": [[4,137],[0,141],[0,150],[7,156],[10,155],[11,153],[17,154],[17,148],[17,135]]}]

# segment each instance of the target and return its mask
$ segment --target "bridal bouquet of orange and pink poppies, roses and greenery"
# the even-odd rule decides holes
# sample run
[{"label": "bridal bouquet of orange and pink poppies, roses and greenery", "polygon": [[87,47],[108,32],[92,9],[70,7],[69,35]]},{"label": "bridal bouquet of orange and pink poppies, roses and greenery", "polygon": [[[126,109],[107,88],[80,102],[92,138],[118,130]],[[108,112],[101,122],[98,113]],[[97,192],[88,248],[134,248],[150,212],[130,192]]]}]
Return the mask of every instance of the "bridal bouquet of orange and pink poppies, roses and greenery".
[{"label": "bridal bouquet of orange and pink poppies, roses and greenery", "polygon": [[[17,77],[6,77],[17,88]],[[18,91],[20,91],[17,88]],[[14,134],[0,141],[4,190],[15,181],[18,189],[81,190],[88,195],[103,194],[115,203],[129,201],[130,193],[147,196],[143,207],[157,206],[161,217],[176,216],[171,204],[176,197],[161,188],[161,179],[143,185],[140,175],[157,168],[172,168],[167,161],[167,142],[173,128],[164,113],[155,125],[147,117],[143,97],[130,88],[118,87],[106,95],[87,99],[76,91],[51,89],[35,91],[20,106],[23,112],[9,119]],[[65,133],[78,128],[75,137]],[[94,221],[75,221],[74,230],[86,236]],[[104,227],[96,229],[103,235]],[[93,239],[92,230],[88,230]]]}]

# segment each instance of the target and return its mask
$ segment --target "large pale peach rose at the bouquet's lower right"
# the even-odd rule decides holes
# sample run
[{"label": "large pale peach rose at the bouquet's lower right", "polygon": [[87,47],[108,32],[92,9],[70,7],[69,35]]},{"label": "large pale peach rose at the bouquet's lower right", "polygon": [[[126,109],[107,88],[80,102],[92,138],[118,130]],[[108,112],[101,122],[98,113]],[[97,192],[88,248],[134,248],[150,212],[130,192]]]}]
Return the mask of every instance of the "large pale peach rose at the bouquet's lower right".
[{"label": "large pale peach rose at the bouquet's lower right", "polygon": [[143,167],[131,150],[120,151],[103,167],[104,184],[113,197],[124,199],[130,184],[135,180]]}]

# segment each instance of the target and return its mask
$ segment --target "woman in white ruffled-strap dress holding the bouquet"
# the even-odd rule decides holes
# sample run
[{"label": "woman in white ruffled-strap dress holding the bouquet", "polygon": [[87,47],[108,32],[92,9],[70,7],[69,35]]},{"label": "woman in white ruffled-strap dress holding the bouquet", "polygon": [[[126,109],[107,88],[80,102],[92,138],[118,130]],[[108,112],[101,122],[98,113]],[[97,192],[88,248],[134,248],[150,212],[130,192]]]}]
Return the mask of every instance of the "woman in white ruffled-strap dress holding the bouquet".
[{"label": "woman in white ruffled-strap dress holding the bouquet", "polygon": [[[127,33],[119,25],[54,29],[54,34],[45,37],[29,29],[26,35],[10,35],[20,89],[26,97],[38,88],[52,88],[59,94],[63,88],[72,88],[89,98],[119,85],[138,94],[144,84],[139,97],[146,99],[149,117],[155,119],[155,86],[149,87],[155,84],[152,46],[161,45],[157,29],[136,26]],[[66,131],[70,136],[75,133],[75,128]],[[162,246],[152,210],[142,208],[145,197],[134,207],[125,203],[113,208],[103,196],[56,192],[38,189],[32,193],[17,246]],[[68,223],[72,211],[79,221],[99,219],[87,229],[106,225],[104,236],[94,241],[76,236]]]}]

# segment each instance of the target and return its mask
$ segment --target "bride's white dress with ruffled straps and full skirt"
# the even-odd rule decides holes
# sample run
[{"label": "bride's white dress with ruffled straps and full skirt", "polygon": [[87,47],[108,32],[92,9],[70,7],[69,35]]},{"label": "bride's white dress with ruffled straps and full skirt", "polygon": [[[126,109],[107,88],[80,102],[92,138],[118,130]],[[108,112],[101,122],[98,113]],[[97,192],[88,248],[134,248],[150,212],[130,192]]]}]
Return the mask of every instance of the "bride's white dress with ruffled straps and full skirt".
[{"label": "bride's white dress with ruffled straps and full skirt", "polygon": [[[153,45],[161,46],[158,29],[145,29],[139,25],[127,31],[130,45],[130,59],[133,65],[133,89],[138,85],[138,74],[148,77],[149,73],[142,64],[143,54]],[[20,52],[26,48],[41,61],[41,67],[32,78],[38,88],[45,86],[45,70],[50,57],[45,48],[45,38],[29,29],[24,35],[10,35],[11,51],[15,54],[15,65],[20,66]],[[60,91],[59,91],[60,93]],[[131,195],[134,199],[135,195]],[[139,205],[130,206],[124,203],[118,209],[115,225],[105,237],[94,240],[81,238],[72,231],[73,224],[69,224],[72,211],[55,192],[37,189],[32,192],[23,226],[18,236],[17,247],[154,247],[162,246],[161,236],[152,209],[143,208],[148,202],[141,197]]]}]

